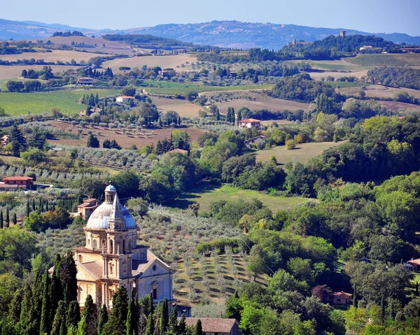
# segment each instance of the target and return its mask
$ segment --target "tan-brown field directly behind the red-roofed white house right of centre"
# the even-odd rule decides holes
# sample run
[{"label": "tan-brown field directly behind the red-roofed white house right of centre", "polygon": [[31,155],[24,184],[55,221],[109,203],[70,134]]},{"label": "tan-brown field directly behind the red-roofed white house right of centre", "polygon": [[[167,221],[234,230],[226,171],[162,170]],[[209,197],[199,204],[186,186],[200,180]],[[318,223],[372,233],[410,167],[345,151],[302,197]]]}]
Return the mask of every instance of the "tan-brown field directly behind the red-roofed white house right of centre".
[{"label": "tan-brown field directly behind the red-roofed white house right of centre", "polygon": [[246,94],[246,96],[255,99],[255,101],[249,99],[233,99],[230,101],[219,102],[216,104],[216,106],[218,106],[222,114],[225,114],[228,111],[228,107],[235,108],[235,111],[239,111],[239,109],[242,107],[247,107],[251,109],[251,111],[267,109],[267,111],[273,112],[284,111],[286,109],[289,111],[297,111],[299,109],[307,111],[309,108],[309,104],[303,104],[301,102],[290,100],[274,99],[268,97],[265,94],[250,93]]}]

